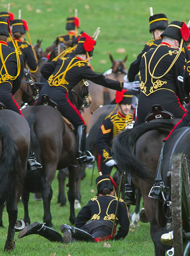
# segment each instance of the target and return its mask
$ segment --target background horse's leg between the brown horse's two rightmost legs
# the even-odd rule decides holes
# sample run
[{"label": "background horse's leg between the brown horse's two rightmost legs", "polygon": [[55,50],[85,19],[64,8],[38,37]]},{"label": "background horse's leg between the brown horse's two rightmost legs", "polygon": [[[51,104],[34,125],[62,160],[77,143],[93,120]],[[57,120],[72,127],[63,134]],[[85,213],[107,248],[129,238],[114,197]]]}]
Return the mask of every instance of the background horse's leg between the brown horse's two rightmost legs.
[{"label": "background horse's leg between the brown horse's two rightmost legs", "polygon": [[66,205],[66,195],[65,195],[65,180],[67,177],[67,168],[61,169],[58,172],[58,183],[59,183],[59,194],[58,194],[58,203],[60,206]]}]

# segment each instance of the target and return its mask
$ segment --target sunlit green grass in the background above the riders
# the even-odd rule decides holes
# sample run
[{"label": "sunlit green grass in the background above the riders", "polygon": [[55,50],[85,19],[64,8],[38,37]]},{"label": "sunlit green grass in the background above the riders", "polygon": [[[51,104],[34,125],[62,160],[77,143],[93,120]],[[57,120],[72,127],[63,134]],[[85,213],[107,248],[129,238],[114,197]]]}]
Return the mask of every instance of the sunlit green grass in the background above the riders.
[{"label": "sunlit green grass in the background above the riders", "polygon": [[[0,10],[6,11],[10,1],[0,2]],[[78,9],[81,20],[80,31],[93,35],[100,26],[101,33],[91,62],[98,72],[110,68],[109,52],[115,59],[124,59],[127,54],[127,67],[135,60],[144,44],[151,39],[148,21],[150,6],[154,13],[164,12],[169,22],[180,20],[187,23],[190,19],[188,0],[13,0],[10,3],[10,11],[15,18],[18,18],[18,9],[21,9],[21,18],[28,22],[33,44],[37,39],[43,39],[43,49],[66,32],[66,17],[73,16],[75,9]]]}]

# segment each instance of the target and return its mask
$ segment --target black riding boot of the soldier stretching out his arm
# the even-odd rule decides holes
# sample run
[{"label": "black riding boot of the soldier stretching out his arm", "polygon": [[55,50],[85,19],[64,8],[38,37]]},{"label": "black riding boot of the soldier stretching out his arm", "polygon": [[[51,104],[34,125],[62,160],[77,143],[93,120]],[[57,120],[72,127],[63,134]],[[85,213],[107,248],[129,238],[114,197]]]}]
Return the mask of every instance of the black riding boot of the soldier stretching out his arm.
[{"label": "black riding boot of the soldier stretching out his arm", "polygon": [[86,151],[86,125],[80,125],[77,128],[77,143],[78,143],[78,162],[80,165],[91,163],[95,157]]}]

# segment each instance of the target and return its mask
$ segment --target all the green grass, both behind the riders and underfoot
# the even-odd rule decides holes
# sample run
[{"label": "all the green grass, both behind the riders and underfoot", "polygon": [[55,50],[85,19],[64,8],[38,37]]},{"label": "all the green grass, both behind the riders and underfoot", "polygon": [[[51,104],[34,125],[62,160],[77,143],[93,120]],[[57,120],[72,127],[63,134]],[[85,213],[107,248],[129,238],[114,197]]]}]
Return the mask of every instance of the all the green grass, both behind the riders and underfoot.
[{"label": "all the green grass, both behind the riders and underfoot", "polygon": [[[6,11],[9,0],[0,1],[0,10]],[[188,0],[12,0],[11,12],[18,18],[18,10],[22,10],[22,19],[27,20],[33,44],[37,39],[43,39],[42,48],[45,49],[55,41],[55,38],[66,32],[66,17],[73,16],[75,8],[81,20],[79,30],[84,30],[92,35],[100,26],[101,33],[98,37],[94,51],[92,66],[98,72],[109,69],[111,63],[108,53],[112,52],[115,59],[123,59],[128,55],[127,67],[141,52],[144,44],[151,39],[149,33],[150,16],[149,7],[154,13],[164,12],[169,22],[180,20],[188,22],[190,19],[190,5]],[[92,170],[87,170],[87,177],[81,183],[82,205],[85,205],[95,193],[95,186],[90,188],[90,175]],[[96,170],[96,173],[97,170]],[[69,204],[59,207],[57,204],[58,182],[52,183],[53,198],[51,202],[52,222],[54,229],[59,231],[60,224],[68,223]],[[18,218],[23,218],[23,206],[19,202]],[[134,209],[134,207],[133,207]],[[31,223],[42,221],[43,203],[34,201],[31,195],[29,201]],[[78,211],[76,211],[77,213]],[[8,227],[8,216],[3,212],[3,221],[6,228],[0,229],[0,256],[7,256],[3,252]],[[150,239],[149,224],[140,224],[140,228],[130,230],[123,241],[110,241],[111,247],[104,247],[104,243],[75,242],[69,245],[51,243],[40,236],[28,236],[17,239],[16,250],[9,255],[15,256],[153,256],[154,248]]]}]

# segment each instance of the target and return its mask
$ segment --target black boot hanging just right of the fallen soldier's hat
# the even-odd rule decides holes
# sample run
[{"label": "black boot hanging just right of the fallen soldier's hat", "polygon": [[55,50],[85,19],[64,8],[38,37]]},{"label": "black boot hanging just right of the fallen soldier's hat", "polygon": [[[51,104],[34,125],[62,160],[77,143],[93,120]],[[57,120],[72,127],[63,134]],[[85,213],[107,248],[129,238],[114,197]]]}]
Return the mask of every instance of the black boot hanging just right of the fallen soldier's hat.
[{"label": "black boot hanging just right of the fallen soldier's hat", "polygon": [[124,202],[125,204],[135,205],[136,204],[136,194],[135,186],[132,182],[131,175],[127,175],[128,183],[125,183],[124,189]]}]

